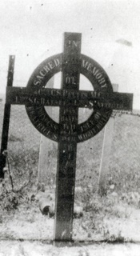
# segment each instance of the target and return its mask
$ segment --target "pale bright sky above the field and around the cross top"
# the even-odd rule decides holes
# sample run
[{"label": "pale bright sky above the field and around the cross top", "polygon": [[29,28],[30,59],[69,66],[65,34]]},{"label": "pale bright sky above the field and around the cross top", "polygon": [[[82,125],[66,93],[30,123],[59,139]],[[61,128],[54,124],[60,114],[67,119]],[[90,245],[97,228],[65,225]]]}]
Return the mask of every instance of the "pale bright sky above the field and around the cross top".
[{"label": "pale bright sky above the field and around the cross top", "polygon": [[1,0],[0,93],[9,55],[14,86],[26,86],[44,59],[62,52],[64,32],[82,33],[82,54],[106,70],[118,91],[133,93],[140,109],[139,0]]}]

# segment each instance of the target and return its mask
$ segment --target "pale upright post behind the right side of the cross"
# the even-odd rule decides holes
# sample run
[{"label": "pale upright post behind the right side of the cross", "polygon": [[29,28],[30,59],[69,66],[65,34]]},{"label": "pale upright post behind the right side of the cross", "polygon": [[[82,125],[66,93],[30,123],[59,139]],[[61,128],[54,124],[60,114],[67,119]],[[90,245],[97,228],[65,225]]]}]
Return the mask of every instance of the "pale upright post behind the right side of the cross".
[{"label": "pale upright post behind the right side of the cross", "polygon": [[[113,89],[115,92],[118,92],[118,85],[113,84]],[[105,126],[104,138],[102,144],[102,157],[100,162],[99,169],[99,178],[98,178],[98,194],[101,196],[106,194],[106,178],[109,169],[111,146],[114,135],[114,118],[110,118]]]}]

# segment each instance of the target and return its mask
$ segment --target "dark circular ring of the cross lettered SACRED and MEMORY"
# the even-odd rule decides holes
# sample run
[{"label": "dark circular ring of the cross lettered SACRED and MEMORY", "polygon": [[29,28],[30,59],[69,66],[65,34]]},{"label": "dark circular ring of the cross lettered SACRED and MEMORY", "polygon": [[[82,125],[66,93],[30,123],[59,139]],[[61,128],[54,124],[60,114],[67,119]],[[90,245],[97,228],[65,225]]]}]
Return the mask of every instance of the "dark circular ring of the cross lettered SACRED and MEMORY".
[{"label": "dark circular ring of the cross lettered SACRED and MEMORY", "polygon": [[[30,102],[32,101],[34,103],[35,100],[36,102],[38,101],[38,103],[41,103],[41,105],[26,106],[26,112],[30,121],[40,133],[58,142],[61,125],[50,118],[42,104],[49,106],[69,106],[69,118],[71,118],[71,121],[73,119],[72,110],[72,113],[70,113],[71,105],[75,107],[78,105],[80,107],[81,105],[82,107],[93,107],[94,110],[90,115],[90,118],[88,118],[86,122],[82,122],[78,125],[77,136],[74,137],[77,142],[83,142],[98,134],[98,132],[106,125],[106,122],[112,113],[112,109],[109,107],[109,102],[106,102],[106,106],[108,104],[108,107],[105,108],[105,103],[98,102],[98,100],[96,100],[96,96],[98,98],[101,94],[110,94],[113,90],[110,79],[108,78],[105,70],[103,70],[102,67],[93,59],[81,54],[79,62],[74,62],[74,65],[78,66],[80,74],[85,75],[86,78],[90,80],[93,86],[93,92],[87,90],[74,91],[73,89],[50,89],[48,90],[49,96],[45,98],[43,96],[45,93],[43,88],[45,88],[45,86],[47,87],[47,82],[52,76],[54,76],[54,74],[60,71],[63,72],[63,68],[65,69],[66,65],[69,65],[69,63],[62,63],[62,54],[57,54],[53,57],[47,58],[34,70],[27,86],[38,88],[40,97],[30,98]],[[71,84],[71,87],[73,87],[76,82],[76,77],[70,77],[70,74],[69,76],[66,76],[66,85]],[[81,102],[81,104],[79,104],[79,102]],[[71,130],[74,129],[71,128]]]}]

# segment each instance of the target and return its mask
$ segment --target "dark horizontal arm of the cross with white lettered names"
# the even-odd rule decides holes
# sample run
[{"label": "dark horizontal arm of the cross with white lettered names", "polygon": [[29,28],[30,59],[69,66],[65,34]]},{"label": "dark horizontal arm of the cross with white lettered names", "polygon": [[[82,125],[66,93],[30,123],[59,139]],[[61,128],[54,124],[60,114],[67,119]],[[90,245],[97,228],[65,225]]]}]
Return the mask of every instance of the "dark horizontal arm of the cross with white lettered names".
[{"label": "dark horizontal arm of the cross with white lettered names", "polygon": [[132,110],[133,94],[102,94],[90,90],[60,90],[35,87],[7,87],[6,103],[27,106],[102,107]]}]

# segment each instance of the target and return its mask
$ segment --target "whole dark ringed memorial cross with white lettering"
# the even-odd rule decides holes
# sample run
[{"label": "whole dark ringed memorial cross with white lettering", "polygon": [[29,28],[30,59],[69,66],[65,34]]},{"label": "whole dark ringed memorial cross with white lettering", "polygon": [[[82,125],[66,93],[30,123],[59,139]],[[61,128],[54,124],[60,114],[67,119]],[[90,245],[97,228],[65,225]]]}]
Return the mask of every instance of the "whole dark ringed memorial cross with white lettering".
[{"label": "whole dark ringed memorial cross with white lettering", "polygon": [[[62,72],[61,89],[47,82]],[[93,91],[79,90],[80,74],[88,78]],[[86,86],[86,85],[85,85]],[[36,129],[58,142],[54,239],[72,240],[74,184],[77,143],[84,142],[106,125],[112,110],[131,110],[132,94],[114,93],[105,70],[81,54],[81,34],[65,33],[64,51],[42,62],[26,87],[7,86],[6,104],[25,104]],[[59,106],[59,122],[54,122],[44,106]],[[86,122],[78,124],[78,108],[92,107]]]}]

